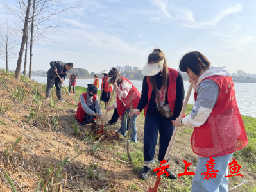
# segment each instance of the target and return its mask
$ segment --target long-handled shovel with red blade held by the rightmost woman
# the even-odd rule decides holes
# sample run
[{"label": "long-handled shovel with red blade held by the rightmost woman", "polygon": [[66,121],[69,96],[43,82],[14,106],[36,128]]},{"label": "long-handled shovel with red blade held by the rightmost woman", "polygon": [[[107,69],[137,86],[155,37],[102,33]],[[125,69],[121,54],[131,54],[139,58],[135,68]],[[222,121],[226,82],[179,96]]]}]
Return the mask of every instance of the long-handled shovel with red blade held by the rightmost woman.
[{"label": "long-handled shovel with red blade held by the rightmost woman", "polygon": [[[182,111],[180,112],[180,115],[178,116],[179,118],[182,118],[183,114],[185,113],[185,109],[187,107],[187,102],[189,101],[189,97],[191,95],[193,85],[194,85],[194,82],[192,82],[189,86],[189,90],[187,91],[187,95],[186,95],[185,101],[184,101],[183,106],[182,106]],[[166,160],[166,161],[167,161],[167,159],[169,157],[169,154],[171,152],[171,148],[173,147],[173,143],[175,142],[175,137],[176,137],[177,132],[178,132],[178,127],[175,127],[175,131],[173,131],[173,136],[171,137],[171,141],[169,142],[169,146],[166,150],[166,155],[164,156],[164,160]],[[163,164],[162,166],[166,166],[166,163]],[[162,179],[162,175],[160,177],[157,177],[154,188],[149,187],[147,192],[157,192],[157,188],[160,184],[161,179]]]}]

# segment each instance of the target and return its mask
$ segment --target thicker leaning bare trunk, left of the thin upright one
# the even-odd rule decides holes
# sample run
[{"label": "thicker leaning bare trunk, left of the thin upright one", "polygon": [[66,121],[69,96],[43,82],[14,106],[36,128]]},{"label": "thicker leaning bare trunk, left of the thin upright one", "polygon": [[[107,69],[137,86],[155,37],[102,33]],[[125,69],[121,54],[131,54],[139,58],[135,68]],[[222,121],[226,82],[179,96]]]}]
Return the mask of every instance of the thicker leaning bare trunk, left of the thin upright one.
[{"label": "thicker leaning bare trunk, left of the thin upright one", "polygon": [[26,17],[24,22],[24,29],[23,29],[23,36],[22,36],[22,42],[21,42],[21,48],[19,50],[19,58],[17,61],[17,67],[15,70],[15,78],[19,80],[21,76],[21,62],[22,62],[22,56],[24,52],[25,47],[25,41],[26,41],[26,35],[28,34],[28,17],[30,16],[30,7],[31,7],[31,0],[28,0],[28,6],[26,10]]}]

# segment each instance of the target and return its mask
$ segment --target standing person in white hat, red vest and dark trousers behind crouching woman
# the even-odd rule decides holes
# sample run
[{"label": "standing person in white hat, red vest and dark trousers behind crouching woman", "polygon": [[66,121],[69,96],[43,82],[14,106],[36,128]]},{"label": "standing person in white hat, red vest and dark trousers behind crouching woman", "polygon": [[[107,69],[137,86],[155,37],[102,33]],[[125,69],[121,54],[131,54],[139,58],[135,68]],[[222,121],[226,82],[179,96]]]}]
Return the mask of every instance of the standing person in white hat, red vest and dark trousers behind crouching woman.
[{"label": "standing person in white hat, red vest and dark trousers behind crouching woman", "polygon": [[112,92],[112,86],[107,82],[108,80],[108,71],[104,70],[102,72],[102,83],[101,83],[101,100],[105,103],[105,109],[108,106],[108,101],[110,99],[110,93]]}]

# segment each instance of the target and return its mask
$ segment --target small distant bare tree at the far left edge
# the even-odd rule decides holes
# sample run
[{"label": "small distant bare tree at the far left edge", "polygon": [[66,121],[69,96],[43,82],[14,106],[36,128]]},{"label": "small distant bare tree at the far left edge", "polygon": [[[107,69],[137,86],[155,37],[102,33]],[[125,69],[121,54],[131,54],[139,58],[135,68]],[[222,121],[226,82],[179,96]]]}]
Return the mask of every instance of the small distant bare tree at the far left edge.
[{"label": "small distant bare tree at the far left edge", "polygon": [[17,54],[17,43],[17,36],[13,33],[7,19],[0,34],[0,58],[6,63],[6,70],[8,70],[8,62]]}]

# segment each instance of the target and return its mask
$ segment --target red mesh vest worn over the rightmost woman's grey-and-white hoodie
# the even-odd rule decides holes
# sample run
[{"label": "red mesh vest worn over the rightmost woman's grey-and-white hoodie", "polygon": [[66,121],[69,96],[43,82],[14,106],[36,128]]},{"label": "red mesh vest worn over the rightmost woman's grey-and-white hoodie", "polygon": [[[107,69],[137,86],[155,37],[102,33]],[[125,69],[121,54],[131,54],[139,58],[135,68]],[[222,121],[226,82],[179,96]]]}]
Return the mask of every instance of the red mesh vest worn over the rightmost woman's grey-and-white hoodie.
[{"label": "red mesh vest worn over the rightmost woman's grey-and-white hoodie", "polygon": [[212,79],[219,85],[219,96],[205,124],[194,127],[191,147],[195,154],[203,157],[224,156],[246,146],[248,139],[237,107],[232,77],[210,76],[205,79]]}]

